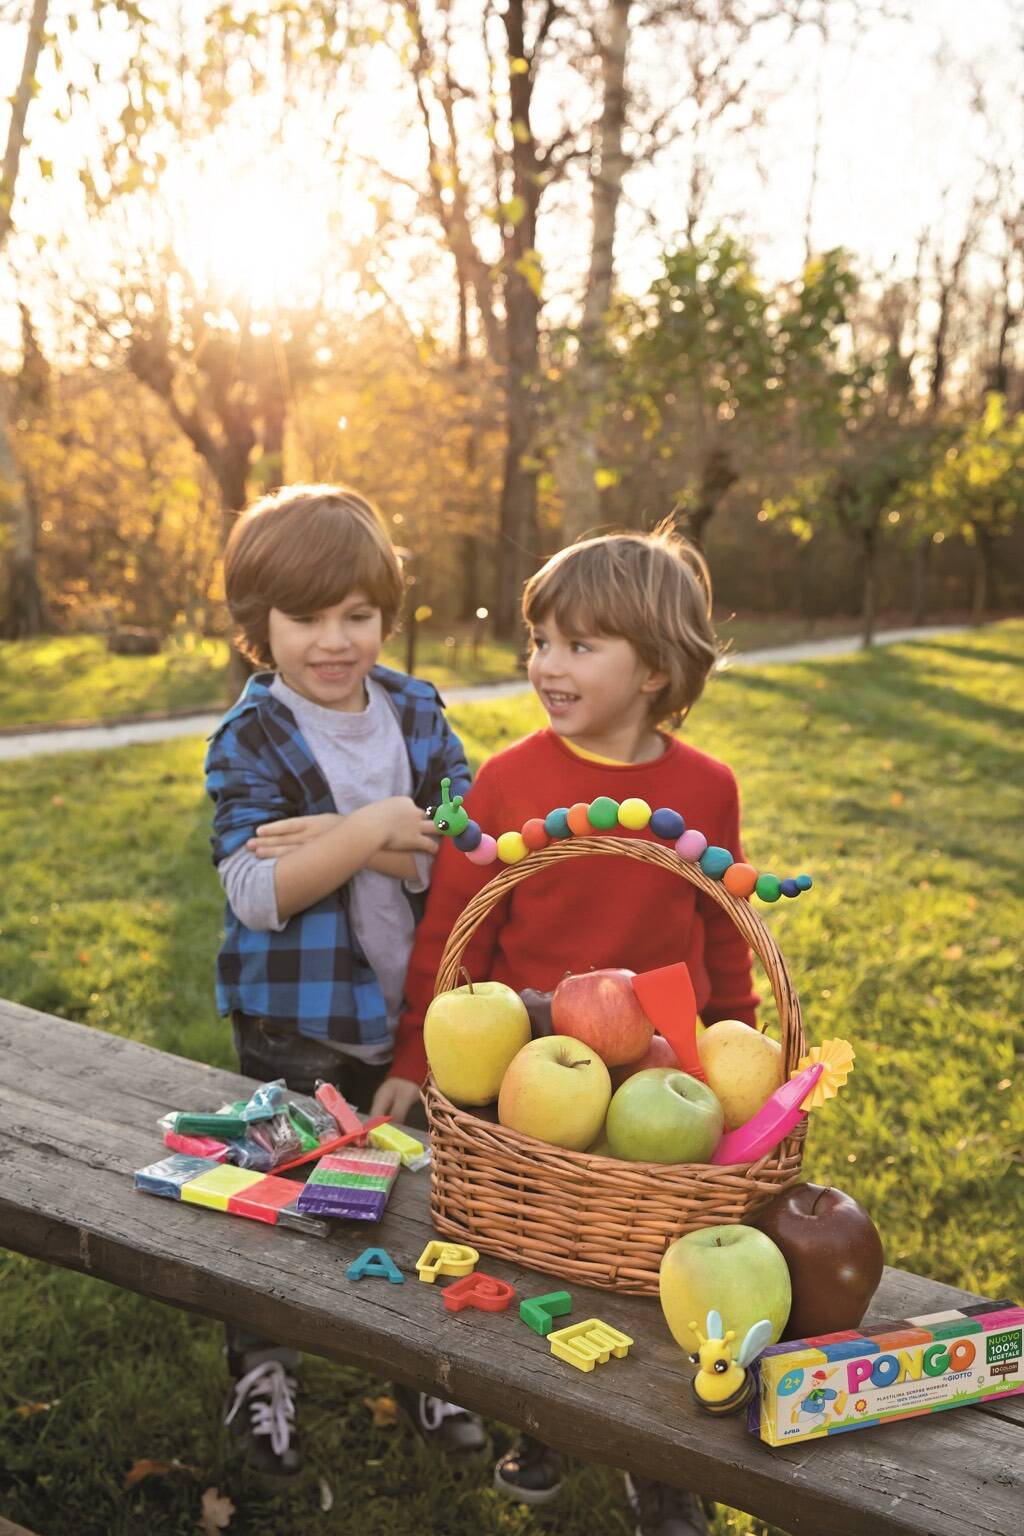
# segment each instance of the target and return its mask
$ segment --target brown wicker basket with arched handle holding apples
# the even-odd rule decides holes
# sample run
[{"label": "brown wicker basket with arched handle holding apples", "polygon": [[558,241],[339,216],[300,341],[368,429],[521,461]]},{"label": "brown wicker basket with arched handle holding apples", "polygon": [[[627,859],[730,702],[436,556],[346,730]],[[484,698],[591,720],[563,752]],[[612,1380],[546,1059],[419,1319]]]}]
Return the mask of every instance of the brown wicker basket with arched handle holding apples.
[{"label": "brown wicker basket with arched handle holding apples", "polygon": [[[473,897],[451,929],[436,991],[457,986],[471,934],[520,880],[563,859],[594,854],[656,865],[689,880],[725,908],[771,982],[783,1068],[789,1075],[806,1043],[800,1003],[775,940],[748,902],[729,895],[699,865],[685,863],[674,849],[657,843],[573,837],[504,868]],[[749,1166],[622,1163],[567,1152],[456,1109],[433,1077],[427,1078],[425,1103],[433,1147],[430,1204],[438,1232],[528,1269],[634,1295],[657,1295],[662,1253],[674,1238],[697,1227],[743,1221],[755,1206],[795,1183],[806,1134],[804,1120],[769,1157]]]}]

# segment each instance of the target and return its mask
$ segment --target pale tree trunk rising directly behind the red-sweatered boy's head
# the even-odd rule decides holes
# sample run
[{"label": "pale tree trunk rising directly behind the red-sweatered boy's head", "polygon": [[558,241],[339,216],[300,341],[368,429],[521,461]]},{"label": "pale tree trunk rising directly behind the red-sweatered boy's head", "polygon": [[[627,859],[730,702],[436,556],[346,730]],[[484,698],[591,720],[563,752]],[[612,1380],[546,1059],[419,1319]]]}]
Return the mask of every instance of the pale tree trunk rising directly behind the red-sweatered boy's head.
[{"label": "pale tree trunk rising directly behind the red-sweatered boy's head", "polygon": [[565,542],[582,538],[600,522],[597,488],[599,444],[597,402],[605,381],[602,341],[605,315],[611,304],[616,217],[626,172],[622,129],[626,115],[626,48],[629,41],[631,0],[608,0],[600,46],[603,103],[599,126],[600,164],[591,181],[590,273],[583,296],[579,352],[573,369],[571,401],[562,430],[557,481],[562,492],[562,536]]}]

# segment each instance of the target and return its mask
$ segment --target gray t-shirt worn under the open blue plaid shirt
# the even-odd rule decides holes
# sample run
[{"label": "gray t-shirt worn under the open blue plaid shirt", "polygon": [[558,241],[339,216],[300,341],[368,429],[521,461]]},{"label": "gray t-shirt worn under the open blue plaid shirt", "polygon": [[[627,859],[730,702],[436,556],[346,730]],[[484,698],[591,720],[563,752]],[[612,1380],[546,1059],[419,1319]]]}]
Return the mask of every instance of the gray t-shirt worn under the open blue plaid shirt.
[{"label": "gray t-shirt worn under the open blue plaid shirt", "polygon": [[[325,710],[295,693],[281,677],[273,679],[270,691],[295,716],[341,816],[373,800],[413,793],[405,740],[381,684],[367,677],[367,707],[359,714]],[[416,854],[418,880],[407,883],[408,891],[427,889],[431,863],[430,854]],[[276,859],[256,859],[247,848],[239,848],[218,865],[224,894],[246,928],[275,932],[284,928],[273,889],[275,865]],[[361,869],[348,880],[348,915],[359,946],[381,983],[391,1040],[372,1046],[344,1044],[338,1049],[362,1061],[390,1061],[415,931],[402,882],[378,874],[376,869]]]}]

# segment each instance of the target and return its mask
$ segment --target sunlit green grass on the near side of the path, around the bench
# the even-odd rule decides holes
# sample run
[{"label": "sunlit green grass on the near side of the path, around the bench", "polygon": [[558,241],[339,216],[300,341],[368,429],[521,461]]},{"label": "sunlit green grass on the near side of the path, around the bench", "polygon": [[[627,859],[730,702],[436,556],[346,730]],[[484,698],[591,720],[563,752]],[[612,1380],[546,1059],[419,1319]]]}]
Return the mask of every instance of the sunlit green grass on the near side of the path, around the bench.
[{"label": "sunlit green grass on the near side of the path, around the bench", "polygon": [[[766,909],[808,1034],[847,1035],[858,1052],[847,1092],[812,1127],[808,1177],[867,1206],[890,1263],[989,1296],[1024,1290],[1022,680],[1024,625],[1009,624],[720,676],[689,731],[737,771],[752,862],[815,876],[811,895]],[[539,720],[531,699],[451,716],[476,760]],[[3,989],[227,1066],[201,756],[187,740],[5,765]],[[186,1536],[209,1485],[246,1533],[631,1530],[620,1482],[600,1468],[576,1470],[548,1516],[504,1505],[485,1479],[451,1481],[407,1435],[372,1427],[368,1378],[319,1361],[302,1410],[310,1468],[267,1491],[218,1436],[215,1324],[17,1255],[0,1258],[0,1510],[45,1536]],[[37,1402],[54,1407],[18,1415]],[[137,1458],[198,1470],[124,1491]],[[720,1511],[726,1530],[763,1525]]]}]

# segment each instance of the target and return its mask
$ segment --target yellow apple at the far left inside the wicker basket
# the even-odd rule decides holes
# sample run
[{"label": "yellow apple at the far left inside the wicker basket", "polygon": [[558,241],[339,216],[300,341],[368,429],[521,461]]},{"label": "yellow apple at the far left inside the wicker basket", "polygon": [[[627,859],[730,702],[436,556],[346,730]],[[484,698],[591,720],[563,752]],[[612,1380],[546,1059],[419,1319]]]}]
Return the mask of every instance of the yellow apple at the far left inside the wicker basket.
[{"label": "yellow apple at the far left inside the wicker basket", "polygon": [[530,1015],[504,982],[468,982],[439,992],[424,1018],[434,1083],[453,1104],[491,1104],[508,1063],[530,1040]]}]

